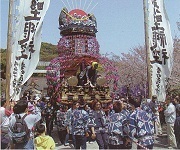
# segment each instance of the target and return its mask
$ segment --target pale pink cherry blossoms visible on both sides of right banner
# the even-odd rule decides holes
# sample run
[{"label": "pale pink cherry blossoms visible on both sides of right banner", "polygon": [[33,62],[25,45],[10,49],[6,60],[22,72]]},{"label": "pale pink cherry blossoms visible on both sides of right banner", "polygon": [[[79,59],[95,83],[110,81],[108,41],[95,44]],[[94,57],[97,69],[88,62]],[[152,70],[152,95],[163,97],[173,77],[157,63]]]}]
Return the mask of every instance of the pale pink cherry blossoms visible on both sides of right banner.
[{"label": "pale pink cherry blossoms visible on both sides of right banner", "polygon": [[[119,85],[129,87],[131,93],[147,92],[147,64],[144,46],[132,48],[130,52],[122,53],[118,61]],[[180,91],[180,39],[174,39],[174,64],[168,82],[167,92]],[[127,92],[127,91],[126,91]],[[180,93],[180,92],[179,92]]]}]

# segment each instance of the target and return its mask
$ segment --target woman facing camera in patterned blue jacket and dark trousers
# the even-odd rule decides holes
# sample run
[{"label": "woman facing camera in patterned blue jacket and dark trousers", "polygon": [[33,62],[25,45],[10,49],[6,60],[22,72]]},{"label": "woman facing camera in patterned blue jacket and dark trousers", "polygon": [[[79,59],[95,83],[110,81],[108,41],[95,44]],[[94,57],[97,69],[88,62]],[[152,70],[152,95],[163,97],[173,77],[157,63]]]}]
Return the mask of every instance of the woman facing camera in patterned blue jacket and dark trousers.
[{"label": "woman facing camera in patterned blue jacket and dark trousers", "polygon": [[89,127],[92,130],[92,138],[96,138],[96,142],[99,146],[99,149],[107,149],[107,127],[108,120],[105,115],[105,112],[101,109],[102,104],[98,100],[92,102],[92,113],[89,114],[90,123]]}]

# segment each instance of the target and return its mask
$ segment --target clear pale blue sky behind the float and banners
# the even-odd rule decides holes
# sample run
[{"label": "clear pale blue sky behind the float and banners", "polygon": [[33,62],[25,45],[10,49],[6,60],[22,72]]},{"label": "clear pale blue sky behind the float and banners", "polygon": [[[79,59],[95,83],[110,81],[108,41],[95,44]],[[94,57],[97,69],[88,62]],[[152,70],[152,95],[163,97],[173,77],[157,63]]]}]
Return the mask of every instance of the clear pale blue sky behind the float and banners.
[{"label": "clear pale blue sky behind the float and banners", "polygon": [[[9,0],[1,0],[0,48],[6,48],[7,43],[8,3]],[[98,27],[96,36],[101,53],[120,55],[133,47],[144,45],[143,0],[51,0],[42,29],[43,42],[57,45],[61,37],[58,17],[65,5],[69,8],[78,6],[95,15]],[[180,0],[165,0],[165,7],[172,36],[180,38],[176,24],[180,21]]]}]

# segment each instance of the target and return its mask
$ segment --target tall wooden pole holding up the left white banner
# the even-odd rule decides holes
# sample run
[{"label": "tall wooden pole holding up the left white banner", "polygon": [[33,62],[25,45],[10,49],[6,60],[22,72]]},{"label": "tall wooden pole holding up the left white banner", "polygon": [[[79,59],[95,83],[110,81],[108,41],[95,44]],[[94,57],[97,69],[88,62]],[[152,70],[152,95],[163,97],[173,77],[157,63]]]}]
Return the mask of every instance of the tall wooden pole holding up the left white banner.
[{"label": "tall wooden pole holding up the left white banner", "polygon": [[13,4],[14,0],[9,0],[7,50],[6,50],[6,103],[10,101],[10,81],[11,81],[11,54],[12,54],[12,24],[13,24]]}]

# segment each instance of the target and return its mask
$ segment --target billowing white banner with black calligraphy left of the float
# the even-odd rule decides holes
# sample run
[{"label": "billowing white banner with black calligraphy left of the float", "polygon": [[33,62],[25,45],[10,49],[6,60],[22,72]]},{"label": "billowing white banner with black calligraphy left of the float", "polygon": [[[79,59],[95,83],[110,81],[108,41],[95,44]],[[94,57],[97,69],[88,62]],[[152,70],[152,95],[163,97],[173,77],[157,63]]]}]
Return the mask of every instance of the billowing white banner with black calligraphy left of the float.
[{"label": "billowing white banner with black calligraphy left of the float", "polygon": [[41,29],[50,0],[20,0],[11,57],[10,97],[19,100],[22,85],[39,61]]}]

